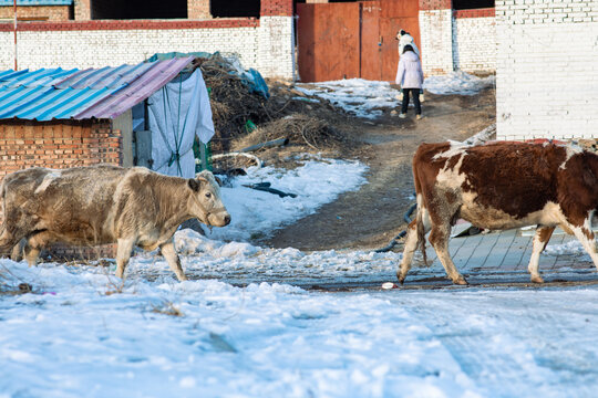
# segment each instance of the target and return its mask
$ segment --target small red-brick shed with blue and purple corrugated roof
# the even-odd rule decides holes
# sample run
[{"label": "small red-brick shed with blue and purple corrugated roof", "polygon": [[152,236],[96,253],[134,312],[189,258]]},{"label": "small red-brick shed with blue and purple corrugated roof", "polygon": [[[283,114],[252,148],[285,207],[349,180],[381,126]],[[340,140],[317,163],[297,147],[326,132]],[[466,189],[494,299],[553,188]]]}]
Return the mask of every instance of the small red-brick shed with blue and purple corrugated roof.
[{"label": "small red-brick shed with blue and purple corrugated roof", "polygon": [[192,61],[0,72],[0,181],[34,166],[133,166],[133,107]]}]

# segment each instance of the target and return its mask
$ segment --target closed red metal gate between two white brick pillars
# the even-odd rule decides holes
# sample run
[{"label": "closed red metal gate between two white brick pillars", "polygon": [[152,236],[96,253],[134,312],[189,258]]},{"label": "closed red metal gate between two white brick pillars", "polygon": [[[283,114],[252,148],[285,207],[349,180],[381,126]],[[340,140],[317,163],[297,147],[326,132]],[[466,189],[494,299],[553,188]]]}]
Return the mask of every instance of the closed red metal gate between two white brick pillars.
[{"label": "closed red metal gate between two white brick pillars", "polygon": [[412,0],[297,4],[302,82],[363,77],[393,81],[396,32],[420,45],[419,7]]}]

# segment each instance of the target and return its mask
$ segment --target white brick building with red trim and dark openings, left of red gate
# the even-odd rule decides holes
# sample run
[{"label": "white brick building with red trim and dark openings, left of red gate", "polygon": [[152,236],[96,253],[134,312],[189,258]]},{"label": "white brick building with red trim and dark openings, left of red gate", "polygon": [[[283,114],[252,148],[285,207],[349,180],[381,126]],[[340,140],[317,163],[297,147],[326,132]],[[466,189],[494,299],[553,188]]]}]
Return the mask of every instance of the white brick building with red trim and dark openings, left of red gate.
[{"label": "white brick building with red trim and dark openings, left of red gate", "polygon": [[[295,77],[292,0],[19,0],[18,69],[138,63],[162,52],[237,54]],[[28,4],[28,6],[25,6]],[[68,12],[66,12],[68,10]],[[0,0],[0,69],[14,65],[12,0]]]}]

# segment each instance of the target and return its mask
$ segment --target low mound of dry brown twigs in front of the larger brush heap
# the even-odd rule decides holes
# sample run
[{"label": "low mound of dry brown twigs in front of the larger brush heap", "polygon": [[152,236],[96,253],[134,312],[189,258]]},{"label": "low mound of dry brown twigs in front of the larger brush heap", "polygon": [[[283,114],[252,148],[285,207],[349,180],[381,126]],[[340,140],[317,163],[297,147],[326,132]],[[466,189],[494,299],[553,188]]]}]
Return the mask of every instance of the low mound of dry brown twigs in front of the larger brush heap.
[{"label": "low mound of dry brown twigs in front of the larger brush heap", "polygon": [[326,121],[303,114],[291,114],[266,123],[252,133],[236,140],[234,150],[277,138],[288,138],[290,144],[307,145],[316,150],[338,147],[344,138]]}]

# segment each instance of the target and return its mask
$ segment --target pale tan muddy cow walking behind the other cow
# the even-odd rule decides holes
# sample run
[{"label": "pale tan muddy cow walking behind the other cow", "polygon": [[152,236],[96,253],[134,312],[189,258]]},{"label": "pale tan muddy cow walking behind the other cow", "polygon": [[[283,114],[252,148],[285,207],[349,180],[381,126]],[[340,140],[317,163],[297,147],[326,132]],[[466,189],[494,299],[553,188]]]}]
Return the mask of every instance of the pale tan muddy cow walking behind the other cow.
[{"label": "pale tan muddy cow walking behind the other cow", "polygon": [[33,265],[49,243],[117,242],[118,277],[123,277],[135,245],[145,250],[159,247],[178,280],[184,281],[173,243],[178,226],[192,218],[216,227],[230,222],[209,171],[184,179],[143,167],[30,168],[4,177],[0,203],[4,214],[0,254],[24,239],[25,259]]}]

